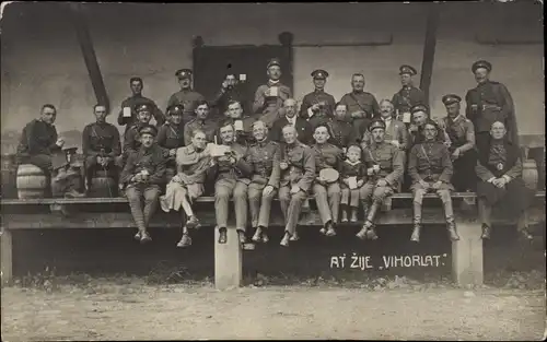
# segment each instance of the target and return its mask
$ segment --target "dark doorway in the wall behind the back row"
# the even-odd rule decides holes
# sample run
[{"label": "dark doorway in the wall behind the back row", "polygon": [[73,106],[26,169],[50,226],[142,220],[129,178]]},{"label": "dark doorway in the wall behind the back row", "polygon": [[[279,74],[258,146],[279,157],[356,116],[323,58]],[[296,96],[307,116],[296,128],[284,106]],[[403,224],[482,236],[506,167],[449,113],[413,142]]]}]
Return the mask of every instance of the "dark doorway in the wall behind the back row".
[{"label": "dark doorway in the wall behind the back row", "polygon": [[266,66],[271,58],[281,62],[281,82],[293,89],[291,47],[281,45],[203,46],[194,48],[194,87],[207,99],[219,92],[228,73],[244,75],[238,87],[245,114],[252,114],[256,89],[266,83]]}]

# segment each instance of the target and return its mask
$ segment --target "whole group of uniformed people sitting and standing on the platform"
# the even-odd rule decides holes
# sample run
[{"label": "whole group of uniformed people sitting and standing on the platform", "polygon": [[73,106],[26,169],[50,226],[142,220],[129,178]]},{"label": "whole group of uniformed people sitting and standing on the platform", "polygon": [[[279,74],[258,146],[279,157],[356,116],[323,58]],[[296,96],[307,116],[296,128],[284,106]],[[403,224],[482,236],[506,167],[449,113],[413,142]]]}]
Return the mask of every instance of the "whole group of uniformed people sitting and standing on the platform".
[{"label": "whole group of uniformed people sitting and standing on the platform", "polygon": [[[357,236],[376,239],[382,202],[407,189],[414,193],[412,241],[420,240],[428,192],[443,202],[449,237],[459,239],[454,190],[477,191],[482,237],[489,238],[492,207],[505,205],[521,217],[529,198],[520,177],[511,95],[503,84],[490,81],[491,69],[488,61],[475,62],[477,86],[465,96],[465,113],[462,97],[447,94],[442,98],[446,116],[437,121],[423,92],[412,84],[417,71],[411,66],[399,68],[401,89],[380,103],[364,91],[360,73],[351,78],[352,91],[336,102],[325,92],[328,72],[315,70],[315,90],[303,97],[300,108],[291,89],[280,82],[277,59],[267,64],[268,81],[251,104],[242,98],[234,74],[226,75],[207,102],[191,89],[191,70],[182,69],[175,73],[181,91],[170,97],[165,115],[142,96],[142,79],[131,78],[132,96],[121,103],[118,115],[118,125],[126,126],[123,145],[102,104],[93,109],[96,121],[83,130],[85,188],[97,170],[110,170],[128,198],[138,227],[135,238],[141,243],[151,240],[147,227],[161,208],[182,209],[177,246],[191,245],[189,232],[200,225],[194,201],[211,190],[220,244],[226,243],[230,199],[240,241],[247,240],[249,213],[252,239],[266,243],[277,196],[286,222],[280,244],[289,246],[299,239],[296,225],[309,196],[315,198],[322,234],[335,236],[339,221],[358,222],[362,208]],[[40,167],[57,196],[83,197],[75,182],[67,181],[74,175],[70,158],[59,152],[63,141],[53,126],[56,114],[54,106],[44,105],[40,118],[24,128],[19,163]],[[525,221],[519,222],[520,232],[531,238]]]}]

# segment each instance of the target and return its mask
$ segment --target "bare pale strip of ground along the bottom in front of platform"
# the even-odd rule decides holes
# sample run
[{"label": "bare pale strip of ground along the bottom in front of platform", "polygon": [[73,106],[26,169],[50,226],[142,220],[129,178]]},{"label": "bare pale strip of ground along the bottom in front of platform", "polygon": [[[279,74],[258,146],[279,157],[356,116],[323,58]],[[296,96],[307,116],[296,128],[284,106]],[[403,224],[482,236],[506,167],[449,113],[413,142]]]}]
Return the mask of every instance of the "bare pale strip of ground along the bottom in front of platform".
[{"label": "bare pale strip of ground along the bottom in front of platform", "polygon": [[[2,337],[16,340],[426,339],[538,341],[543,293],[321,287],[216,292],[102,284],[2,290]],[[71,293],[71,290],[73,291]]]}]

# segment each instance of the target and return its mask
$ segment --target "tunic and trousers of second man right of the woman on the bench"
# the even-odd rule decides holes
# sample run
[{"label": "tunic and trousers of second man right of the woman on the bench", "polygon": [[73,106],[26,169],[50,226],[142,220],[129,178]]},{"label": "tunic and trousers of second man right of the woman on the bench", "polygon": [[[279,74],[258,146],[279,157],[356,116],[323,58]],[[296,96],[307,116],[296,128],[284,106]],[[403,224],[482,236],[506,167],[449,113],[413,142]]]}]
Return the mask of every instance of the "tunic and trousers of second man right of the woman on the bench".
[{"label": "tunic and trousers of second man right of the woman on the bench", "polygon": [[[268,227],[271,200],[279,189],[281,169],[281,145],[275,141],[260,141],[251,145],[247,162],[253,172],[248,185],[248,203],[251,207],[251,223],[253,227]],[[266,186],[274,187],[270,194],[263,194]]]}]

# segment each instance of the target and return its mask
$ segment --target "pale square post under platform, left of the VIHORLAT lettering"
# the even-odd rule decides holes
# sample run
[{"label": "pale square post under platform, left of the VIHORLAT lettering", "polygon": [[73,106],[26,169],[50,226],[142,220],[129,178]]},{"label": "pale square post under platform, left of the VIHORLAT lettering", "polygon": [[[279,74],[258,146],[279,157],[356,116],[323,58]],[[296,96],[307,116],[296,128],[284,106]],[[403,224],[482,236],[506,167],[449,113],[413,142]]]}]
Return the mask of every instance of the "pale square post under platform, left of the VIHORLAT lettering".
[{"label": "pale square post under platform, left of the VIHORLAT lettering", "polygon": [[214,287],[240,287],[243,279],[243,257],[240,237],[234,226],[229,226],[228,241],[219,244],[219,229],[214,228]]}]

